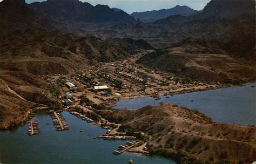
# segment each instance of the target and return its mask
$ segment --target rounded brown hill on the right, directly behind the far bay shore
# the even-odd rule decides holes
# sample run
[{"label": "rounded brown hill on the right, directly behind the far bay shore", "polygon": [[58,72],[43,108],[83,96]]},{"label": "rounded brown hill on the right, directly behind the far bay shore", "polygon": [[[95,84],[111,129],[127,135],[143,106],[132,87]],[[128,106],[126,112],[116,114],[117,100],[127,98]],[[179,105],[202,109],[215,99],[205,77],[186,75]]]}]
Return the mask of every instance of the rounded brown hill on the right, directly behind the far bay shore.
[{"label": "rounded brown hill on the right, directly behind the far bay shore", "polygon": [[254,66],[228,56],[217,45],[196,39],[147,53],[137,63],[186,79],[244,83],[256,78]]}]

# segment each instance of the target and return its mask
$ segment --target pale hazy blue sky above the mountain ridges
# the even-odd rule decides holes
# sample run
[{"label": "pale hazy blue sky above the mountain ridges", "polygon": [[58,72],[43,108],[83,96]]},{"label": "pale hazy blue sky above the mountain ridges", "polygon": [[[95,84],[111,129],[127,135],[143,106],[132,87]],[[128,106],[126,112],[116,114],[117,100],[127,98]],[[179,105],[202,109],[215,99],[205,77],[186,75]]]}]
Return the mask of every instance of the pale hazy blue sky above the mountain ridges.
[{"label": "pale hazy blue sky above the mountain ridges", "polygon": [[[0,0],[1,1],[1,0]],[[46,0],[26,0],[26,3],[42,2]],[[60,0],[61,1],[61,0]],[[187,5],[192,9],[201,10],[211,0],[80,0],[92,5],[105,4],[110,8],[122,9],[127,13],[170,9],[176,5]]]}]

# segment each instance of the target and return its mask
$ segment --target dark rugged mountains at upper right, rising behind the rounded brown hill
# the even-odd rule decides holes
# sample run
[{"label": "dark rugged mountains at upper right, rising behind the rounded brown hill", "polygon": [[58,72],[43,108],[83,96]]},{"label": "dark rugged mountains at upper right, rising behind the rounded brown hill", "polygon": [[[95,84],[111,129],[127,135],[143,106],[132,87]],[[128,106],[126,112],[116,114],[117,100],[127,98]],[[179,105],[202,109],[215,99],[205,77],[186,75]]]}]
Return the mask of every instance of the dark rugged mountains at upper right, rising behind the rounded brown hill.
[{"label": "dark rugged mountains at upper right, rising behind the rounded brown hill", "polygon": [[224,1],[223,11],[217,10],[219,5],[220,1],[213,0],[194,16],[174,15],[151,23],[120,23],[92,31],[91,35],[145,39],[159,48],[170,47],[188,38],[200,38],[219,45],[228,53],[254,59],[254,1]]}]

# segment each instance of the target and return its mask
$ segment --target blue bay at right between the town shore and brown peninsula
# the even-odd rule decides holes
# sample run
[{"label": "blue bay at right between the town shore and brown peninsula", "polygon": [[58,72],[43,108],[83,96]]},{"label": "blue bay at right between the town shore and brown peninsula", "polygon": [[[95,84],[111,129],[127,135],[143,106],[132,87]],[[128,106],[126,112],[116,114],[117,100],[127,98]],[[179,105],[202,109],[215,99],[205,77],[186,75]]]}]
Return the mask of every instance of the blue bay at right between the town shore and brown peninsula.
[{"label": "blue bay at right between the town shore and brown peninsula", "polygon": [[139,109],[163,102],[192,110],[197,109],[217,122],[256,125],[255,87],[251,86],[255,86],[255,83],[247,83],[242,87],[232,86],[218,90],[177,94],[170,98],[160,95],[161,99],[158,101],[151,97],[120,100],[114,108]]}]

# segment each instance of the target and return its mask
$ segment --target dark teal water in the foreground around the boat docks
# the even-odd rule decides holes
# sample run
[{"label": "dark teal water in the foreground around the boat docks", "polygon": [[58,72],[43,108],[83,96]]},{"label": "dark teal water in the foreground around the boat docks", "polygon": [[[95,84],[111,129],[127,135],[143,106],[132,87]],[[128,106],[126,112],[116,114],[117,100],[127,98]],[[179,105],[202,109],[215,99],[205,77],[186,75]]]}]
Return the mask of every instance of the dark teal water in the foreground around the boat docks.
[{"label": "dark teal water in the foreground around the boat docks", "polygon": [[[160,156],[143,156],[136,153],[113,155],[112,152],[125,140],[93,139],[105,129],[88,124],[68,112],[63,112],[69,131],[55,131],[50,115],[38,112],[33,118],[41,133],[26,134],[28,124],[15,131],[0,132],[0,163],[175,163]],[[50,125],[47,125],[47,122]],[[80,133],[79,130],[84,132]]]}]

